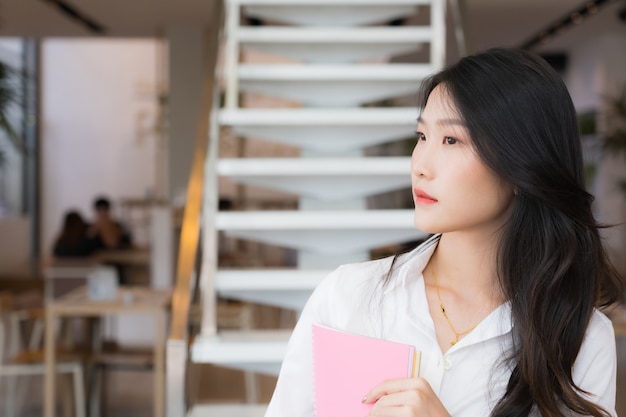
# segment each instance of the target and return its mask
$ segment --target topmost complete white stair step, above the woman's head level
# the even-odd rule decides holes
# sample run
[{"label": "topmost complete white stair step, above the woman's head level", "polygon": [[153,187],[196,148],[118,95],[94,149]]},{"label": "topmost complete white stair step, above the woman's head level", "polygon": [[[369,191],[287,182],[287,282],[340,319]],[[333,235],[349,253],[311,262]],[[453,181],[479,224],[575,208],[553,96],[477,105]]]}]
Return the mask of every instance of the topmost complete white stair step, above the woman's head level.
[{"label": "topmost complete white stair step, above the woman's head level", "polygon": [[244,27],[245,48],[308,62],[353,62],[417,51],[430,42],[427,26],[404,27]]}]

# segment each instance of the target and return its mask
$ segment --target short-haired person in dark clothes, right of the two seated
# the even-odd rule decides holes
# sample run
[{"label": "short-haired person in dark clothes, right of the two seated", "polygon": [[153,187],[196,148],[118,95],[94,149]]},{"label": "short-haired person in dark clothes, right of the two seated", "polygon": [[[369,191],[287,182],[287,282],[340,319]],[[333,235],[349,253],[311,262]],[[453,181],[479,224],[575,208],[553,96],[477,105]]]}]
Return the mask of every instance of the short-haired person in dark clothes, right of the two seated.
[{"label": "short-haired person in dark clothes, right of the two seated", "polygon": [[126,228],[111,216],[111,202],[98,197],[93,203],[94,223],[87,229],[87,236],[97,250],[126,249],[131,246],[131,235]]}]

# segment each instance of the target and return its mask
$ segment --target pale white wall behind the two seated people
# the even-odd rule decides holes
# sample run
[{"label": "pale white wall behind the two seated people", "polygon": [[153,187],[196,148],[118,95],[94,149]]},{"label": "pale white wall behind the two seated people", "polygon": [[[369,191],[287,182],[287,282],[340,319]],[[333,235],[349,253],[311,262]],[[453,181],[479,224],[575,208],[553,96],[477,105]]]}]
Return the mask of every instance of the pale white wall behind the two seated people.
[{"label": "pale white wall behind the two seated people", "polygon": [[64,212],[155,186],[155,40],[50,39],[42,47],[42,254]]}]

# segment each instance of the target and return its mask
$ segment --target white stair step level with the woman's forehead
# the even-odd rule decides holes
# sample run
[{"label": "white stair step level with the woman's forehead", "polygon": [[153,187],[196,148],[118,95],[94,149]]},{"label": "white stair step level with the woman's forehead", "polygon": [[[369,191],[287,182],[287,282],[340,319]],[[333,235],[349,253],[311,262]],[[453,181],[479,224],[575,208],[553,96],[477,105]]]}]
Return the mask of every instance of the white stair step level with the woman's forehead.
[{"label": "white stair step level with the woman's forehead", "polygon": [[257,137],[323,153],[341,153],[414,137],[415,107],[222,109],[219,123]]}]

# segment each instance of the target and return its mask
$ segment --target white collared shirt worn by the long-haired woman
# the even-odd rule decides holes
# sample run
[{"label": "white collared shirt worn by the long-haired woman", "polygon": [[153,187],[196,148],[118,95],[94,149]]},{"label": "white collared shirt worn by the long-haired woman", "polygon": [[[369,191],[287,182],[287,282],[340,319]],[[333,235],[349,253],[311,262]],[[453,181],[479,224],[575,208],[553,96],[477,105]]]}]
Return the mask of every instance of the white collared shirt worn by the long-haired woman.
[{"label": "white collared shirt worn by the long-haired woman", "polygon": [[[422,275],[437,242],[435,236],[402,255],[385,286],[383,278],[392,258],[343,265],[320,283],[291,336],[266,417],[314,416],[313,323],[414,345],[422,352],[420,376],[430,383],[453,417],[490,414],[504,395],[512,371],[505,362],[512,344],[510,306],[505,303],[498,307],[442,354]],[[616,369],[612,323],[595,311],[572,377],[612,416],[617,416]]]}]

